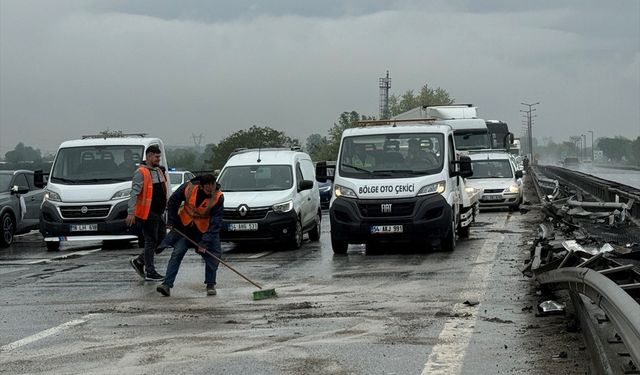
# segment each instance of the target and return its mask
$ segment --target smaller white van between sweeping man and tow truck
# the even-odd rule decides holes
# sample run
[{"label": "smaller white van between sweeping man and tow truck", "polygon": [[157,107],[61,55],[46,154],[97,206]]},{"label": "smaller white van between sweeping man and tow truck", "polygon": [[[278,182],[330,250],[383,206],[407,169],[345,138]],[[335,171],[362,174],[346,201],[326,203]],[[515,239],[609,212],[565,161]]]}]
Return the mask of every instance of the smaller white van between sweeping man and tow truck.
[{"label": "smaller white van between sweeping man and tow truck", "polygon": [[320,194],[311,158],[298,149],[245,149],[218,177],[224,193],[222,241],[320,240]]}]

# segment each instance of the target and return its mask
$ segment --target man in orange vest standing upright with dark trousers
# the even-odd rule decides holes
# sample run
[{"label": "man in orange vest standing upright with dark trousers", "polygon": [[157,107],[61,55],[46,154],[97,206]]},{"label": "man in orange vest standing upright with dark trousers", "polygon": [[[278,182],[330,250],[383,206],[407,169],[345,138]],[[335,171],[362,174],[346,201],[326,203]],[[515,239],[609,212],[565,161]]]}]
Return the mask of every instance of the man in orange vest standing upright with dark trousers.
[{"label": "man in orange vest standing upright with dark trousers", "polygon": [[128,215],[125,220],[132,226],[140,221],[144,236],[144,250],[129,263],[145,280],[161,281],[154,266],[154,250],[160,243],[161,229],[164,228],[162,214],[167,206],[167,178],[160,167],[160,147],[151,145],[145,152],[146,161],[133,174]]}]

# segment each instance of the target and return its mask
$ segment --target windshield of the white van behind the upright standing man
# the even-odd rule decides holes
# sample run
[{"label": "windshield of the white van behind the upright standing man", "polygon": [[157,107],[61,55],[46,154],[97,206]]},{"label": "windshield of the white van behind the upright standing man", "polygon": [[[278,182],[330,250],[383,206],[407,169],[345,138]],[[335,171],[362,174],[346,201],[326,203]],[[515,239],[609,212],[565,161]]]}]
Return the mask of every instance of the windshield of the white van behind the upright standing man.
[{"label": "windshield of the white van behind the upright standing man", "polygon": [[61,184],[130,181],[142,161],[143,146],[86,146],[58,150],[49,180]]}]

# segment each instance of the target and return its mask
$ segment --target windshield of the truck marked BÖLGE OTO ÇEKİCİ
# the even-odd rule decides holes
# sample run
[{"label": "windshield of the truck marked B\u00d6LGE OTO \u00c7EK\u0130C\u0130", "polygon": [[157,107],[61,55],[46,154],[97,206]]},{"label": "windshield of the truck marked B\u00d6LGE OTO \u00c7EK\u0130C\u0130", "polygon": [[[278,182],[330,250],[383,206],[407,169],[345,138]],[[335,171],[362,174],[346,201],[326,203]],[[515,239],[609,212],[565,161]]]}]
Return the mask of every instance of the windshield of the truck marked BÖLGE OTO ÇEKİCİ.
[{"label": "windshield of the truck marked B\u00d6LGE OTO \u00c7EK\u0130C\u0130", "polygon": [[442,171],[444,137],[439,133],[371,134],[346,137],[340,175],[376,179],[426,176]]}]

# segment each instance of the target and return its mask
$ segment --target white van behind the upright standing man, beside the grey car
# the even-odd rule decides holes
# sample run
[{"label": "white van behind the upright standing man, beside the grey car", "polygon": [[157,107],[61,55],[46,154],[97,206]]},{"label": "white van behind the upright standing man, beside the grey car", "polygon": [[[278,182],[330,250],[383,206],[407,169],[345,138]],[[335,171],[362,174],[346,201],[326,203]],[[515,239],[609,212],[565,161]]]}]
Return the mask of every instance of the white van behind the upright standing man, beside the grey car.
[{"label": "white van behind the upright standing man, beside the grey car", "polygon": [[48,250],[62,241],[135,240],[125,224],[131,179],[145,150],[156,144],[167,167],[164,144],[146,134],[98,134],[63,142],[49,174],[40,212]]}]

